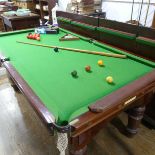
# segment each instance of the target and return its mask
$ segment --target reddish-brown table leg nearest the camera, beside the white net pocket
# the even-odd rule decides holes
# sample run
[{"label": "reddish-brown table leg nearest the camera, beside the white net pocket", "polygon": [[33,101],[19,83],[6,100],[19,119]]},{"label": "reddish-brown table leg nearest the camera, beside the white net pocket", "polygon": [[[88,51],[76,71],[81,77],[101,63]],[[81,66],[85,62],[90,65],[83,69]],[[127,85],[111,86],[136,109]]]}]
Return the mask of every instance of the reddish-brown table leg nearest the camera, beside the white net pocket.
[{"label": "reddish-brown table leg nearest the camera, beside the white net pocket", "polygon": [[89,132],[83,133],[70,139],[70,155],[86,155],[87,144],[90,142]]}]

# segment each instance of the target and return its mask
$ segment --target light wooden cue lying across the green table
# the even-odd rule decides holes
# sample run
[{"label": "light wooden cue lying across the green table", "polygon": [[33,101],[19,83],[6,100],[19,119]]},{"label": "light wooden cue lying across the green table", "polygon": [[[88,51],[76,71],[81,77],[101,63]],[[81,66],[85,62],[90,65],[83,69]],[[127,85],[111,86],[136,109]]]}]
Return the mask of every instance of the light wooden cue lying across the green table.
[{"label": "light wooden cue lying across the green table", "polygon": [[58,47],[58,46],[51,46],[51,45],[35,44],[35,43],[22,42],[22,41],[17,41],[17,43],[41,46],[41,47],[47,47],[47,48],[58,48],[58,49],[68,50],[68,51],[73,51],[73,52],[102,55],[102,56],[115,57],[115,58],[127,58],[126,55],[121,55],[121,54],[112,54],[112,53],[105,53],[105,52],[97,52],[97,51],[81,50],[81,49]]}]

